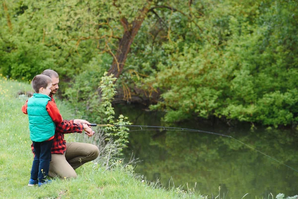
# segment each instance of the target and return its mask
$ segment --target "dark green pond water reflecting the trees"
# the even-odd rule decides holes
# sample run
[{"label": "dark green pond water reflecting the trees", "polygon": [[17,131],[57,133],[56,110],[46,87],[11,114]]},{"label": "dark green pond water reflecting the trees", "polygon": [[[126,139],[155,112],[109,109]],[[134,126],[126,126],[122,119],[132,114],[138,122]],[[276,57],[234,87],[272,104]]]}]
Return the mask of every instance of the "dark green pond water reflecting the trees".
[{"label": "dark green pond water reflecting the trees", "polygon": [[[115,108],[118,114],[128,116],[136,125],[164,125],[200,129],[234,137],[241,142],[274,157],[296,170],[298,169],[298,133],[294,130],[257,129],[249,126],[228,128],[224,124],[213,126],[202,122],[166,124],[161,123],[161,113],[142,110],[140,106],[121,105]],[[131,128],[137,130],[138,128]],[[165,186],[184,186],[196,189],[201,194],[245,199],[268,198],[298,194],[298,172],[258,153],[232,138],[186,131],[133,131],[130,133],[127,157],[134,152],[143,160],[136,173],[147,180],[159,181]],[[129,158],[127,158],[129,159]],[[226,198],[226,197],[224,197]]]}]

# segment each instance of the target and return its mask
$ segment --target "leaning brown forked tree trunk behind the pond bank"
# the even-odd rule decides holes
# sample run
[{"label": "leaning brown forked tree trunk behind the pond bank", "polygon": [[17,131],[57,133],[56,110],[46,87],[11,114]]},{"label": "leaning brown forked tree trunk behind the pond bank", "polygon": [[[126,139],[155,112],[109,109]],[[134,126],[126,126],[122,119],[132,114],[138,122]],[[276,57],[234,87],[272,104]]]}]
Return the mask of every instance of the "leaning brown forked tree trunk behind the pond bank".
[{"label": "leaning brown forked tree trunk behind the pond bank", "polygon": [[108,75],[113,74],[114,77],[119,78],[121,72],[123,71],[127,54],[149,10],[148,7],[150,6],[150,3],[148,4],[149,5],[147,7],[143,7],[140,15],[131,24],[128,23],[125,17],[121,18],[121,24],[124,27],[124,34],[119,42],[117,53],[114,56]]}]

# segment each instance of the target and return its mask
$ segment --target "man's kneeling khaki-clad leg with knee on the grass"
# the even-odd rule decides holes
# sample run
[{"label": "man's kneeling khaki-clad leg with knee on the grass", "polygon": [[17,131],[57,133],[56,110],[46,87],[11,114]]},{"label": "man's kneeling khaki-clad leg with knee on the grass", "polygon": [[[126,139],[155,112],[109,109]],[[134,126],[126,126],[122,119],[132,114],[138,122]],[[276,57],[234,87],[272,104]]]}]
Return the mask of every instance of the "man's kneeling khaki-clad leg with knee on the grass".
[{"label": "man's kneeling khaki-clad leg with knee on the grass", "polygon": [[76,178],[73,167],[65,159],[65,154],[52,154],[49,176],[61,178]]}]

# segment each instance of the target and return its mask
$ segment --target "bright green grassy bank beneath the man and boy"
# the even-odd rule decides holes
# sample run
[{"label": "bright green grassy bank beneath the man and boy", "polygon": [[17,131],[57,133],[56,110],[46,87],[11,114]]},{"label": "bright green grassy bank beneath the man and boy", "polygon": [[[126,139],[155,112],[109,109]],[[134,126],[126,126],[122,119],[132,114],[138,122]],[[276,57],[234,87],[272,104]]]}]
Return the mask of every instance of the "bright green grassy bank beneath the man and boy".
[{"label": "bright green grassy bank beneath the man and boy", "polygon": [[[1,76],[1,75],[0,75]],[[27,100],[19,91],[30,92],[31,86],[0,77],[0,198],[5,199],[203,199],[194,191],[180,188],[165,190],[158,184],[142,182],[132,167],[116,163],[109,170],[92,162],[76,170],[76,179],[55,179],[41,188],[28,187],[33,161],[28,118],[21,107]],[[73,116],[66,103],[57,101],[66,119]],[[83,136],[83,135],[82,135]],[[74,136],[66,135],[68,141]]]}]

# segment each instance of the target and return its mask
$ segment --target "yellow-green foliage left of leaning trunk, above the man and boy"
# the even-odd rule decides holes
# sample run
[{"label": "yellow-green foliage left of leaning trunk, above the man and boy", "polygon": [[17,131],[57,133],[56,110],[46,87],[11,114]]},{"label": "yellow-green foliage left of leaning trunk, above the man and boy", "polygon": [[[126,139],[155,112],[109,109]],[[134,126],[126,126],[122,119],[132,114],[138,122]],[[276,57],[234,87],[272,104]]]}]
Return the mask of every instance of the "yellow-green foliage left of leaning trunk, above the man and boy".
[{"label": "yellow-green foliage left of leaning trunk, above the man and boy", "polygon": [[[120,18],[132,20],[145,2],[13,0],[7,13],[0,9],[0,72],[28,80],[51,68],[72,79],[84,72],[83,65],[98,59],[98,53],[115,49],[122,36]],[[110,59],[103,58],[93,70],[108,69],[113,56],[104,55]]]}]

